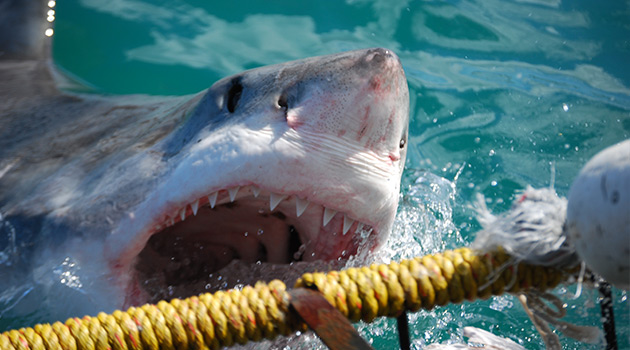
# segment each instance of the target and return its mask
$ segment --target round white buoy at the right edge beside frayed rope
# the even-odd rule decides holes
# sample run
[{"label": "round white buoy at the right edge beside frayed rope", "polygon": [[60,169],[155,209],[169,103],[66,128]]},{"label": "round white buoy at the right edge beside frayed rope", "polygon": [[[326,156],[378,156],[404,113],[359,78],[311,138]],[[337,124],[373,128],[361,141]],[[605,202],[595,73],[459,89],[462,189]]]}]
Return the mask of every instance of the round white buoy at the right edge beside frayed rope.
[{"label": "round white buoy at the right edge beside frayed rope", "polygon": [[567,231],[588,267],[630,290],[630,140],[582,168],[569,192]]}]

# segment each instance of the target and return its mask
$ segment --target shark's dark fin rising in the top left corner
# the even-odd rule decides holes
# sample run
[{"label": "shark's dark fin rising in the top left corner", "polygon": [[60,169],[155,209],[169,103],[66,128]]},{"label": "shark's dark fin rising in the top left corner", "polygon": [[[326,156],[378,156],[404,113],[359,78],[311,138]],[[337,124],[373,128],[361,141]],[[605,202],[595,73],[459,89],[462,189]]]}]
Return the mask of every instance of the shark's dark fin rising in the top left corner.
[{"label": "shark's dark fin rising in the top left corner", "polygon": [[0,60],[47,60],[48,0],[0,0]]}]

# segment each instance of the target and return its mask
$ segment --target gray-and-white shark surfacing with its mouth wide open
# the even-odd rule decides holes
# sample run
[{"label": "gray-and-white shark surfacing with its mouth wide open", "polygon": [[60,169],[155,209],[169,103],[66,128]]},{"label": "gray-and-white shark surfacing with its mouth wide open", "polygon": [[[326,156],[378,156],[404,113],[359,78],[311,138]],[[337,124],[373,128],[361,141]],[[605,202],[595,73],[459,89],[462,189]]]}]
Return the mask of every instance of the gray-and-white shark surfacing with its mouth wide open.
[{"label": "gray-and-white shark surfacing with its mouth wide open", "polygon": [[191,96],[99,96],[57,87],[48,38],[3,40],[0,319],[187,296],[234,259],[347,258],[391,230],[409,113],[391,51],[257,68]]}]

